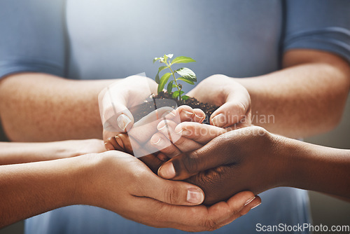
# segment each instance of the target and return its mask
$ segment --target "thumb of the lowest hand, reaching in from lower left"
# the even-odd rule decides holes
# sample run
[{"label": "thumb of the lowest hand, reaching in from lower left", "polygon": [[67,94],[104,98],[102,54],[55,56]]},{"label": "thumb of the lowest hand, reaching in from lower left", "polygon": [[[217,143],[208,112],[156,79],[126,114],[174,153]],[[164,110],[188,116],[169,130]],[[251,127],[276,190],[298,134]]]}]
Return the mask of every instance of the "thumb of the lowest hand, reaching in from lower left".
[{"label": "thumb of the lowest hand, reaching in from lower left", "polygon": [[200,205],[204,201],[204,192],[193,184],[162,179],[155,174],[144,181],[140,196],[172,205]]}]

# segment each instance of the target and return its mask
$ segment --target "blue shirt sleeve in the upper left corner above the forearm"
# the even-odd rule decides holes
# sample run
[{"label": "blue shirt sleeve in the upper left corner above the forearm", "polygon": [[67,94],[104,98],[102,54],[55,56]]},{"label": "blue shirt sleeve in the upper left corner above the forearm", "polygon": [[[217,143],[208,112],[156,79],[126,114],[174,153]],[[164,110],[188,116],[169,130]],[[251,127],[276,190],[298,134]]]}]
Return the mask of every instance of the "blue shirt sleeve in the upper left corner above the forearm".
[{"label": "blue shirt sleeve in the upper left corner above the forearm", "polygon": [[63,0],[0,1],[0,78],[23,71],[64,76]]}]

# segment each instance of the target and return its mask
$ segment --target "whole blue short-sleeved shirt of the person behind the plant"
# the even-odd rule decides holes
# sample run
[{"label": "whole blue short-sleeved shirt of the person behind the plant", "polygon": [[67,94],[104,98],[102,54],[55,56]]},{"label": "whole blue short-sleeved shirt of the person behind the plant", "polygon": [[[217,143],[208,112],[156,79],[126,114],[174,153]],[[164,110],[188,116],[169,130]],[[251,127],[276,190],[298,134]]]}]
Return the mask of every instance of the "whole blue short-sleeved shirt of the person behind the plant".
[{"label": "whole blue short-sleeved shirt of the person behind the plant", "polygon": [[[199,81],[280,69],[286,50],[308,48],[350,61],[346,0],[3,0],[0,77],[38,71],[73,79],[146,72],[165,53],[193,57]],[[184,90],[190,86],[184,84]],[[275,188],[262,205],[214,233],[256,233],[255,226],[309,223],[307,192]],[[71,206],[35,216],[26,233],[183,233],[144,226],[99,207]],[[296,232],[298,233],[298,232]]]}]

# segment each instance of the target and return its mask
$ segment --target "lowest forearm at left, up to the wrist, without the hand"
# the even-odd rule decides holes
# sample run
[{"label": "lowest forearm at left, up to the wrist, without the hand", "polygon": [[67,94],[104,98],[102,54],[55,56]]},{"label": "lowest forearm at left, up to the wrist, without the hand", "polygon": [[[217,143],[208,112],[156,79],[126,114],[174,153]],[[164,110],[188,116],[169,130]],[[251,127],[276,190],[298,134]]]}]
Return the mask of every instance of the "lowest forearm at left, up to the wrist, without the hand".
[{"label": "lowest forearm at left, up to the wrist, without the hand", "polygon": [[85,204],[82,181],[90,184],[96,160],[79,156],[0,166],[0,228],[58,207]]}]

